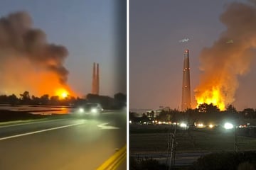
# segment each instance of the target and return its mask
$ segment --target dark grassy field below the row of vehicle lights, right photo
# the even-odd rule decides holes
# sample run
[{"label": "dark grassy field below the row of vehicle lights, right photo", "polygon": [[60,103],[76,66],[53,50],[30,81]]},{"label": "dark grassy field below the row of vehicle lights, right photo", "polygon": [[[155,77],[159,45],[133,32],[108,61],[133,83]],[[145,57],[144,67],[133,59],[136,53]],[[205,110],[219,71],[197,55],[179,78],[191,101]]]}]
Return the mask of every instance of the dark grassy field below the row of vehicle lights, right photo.
[{"label": "dark grassy field below the row of vehicle lights, right photo", "polygon": [[[172,131],[170,131],[172,132]],[[177,130],[176,152],[221,152],[234,150],[233,130]],[[169,129],[130,129],[130,152],[166,152]],[[239,151],[256,150],[256,138],[237,136]]]}]

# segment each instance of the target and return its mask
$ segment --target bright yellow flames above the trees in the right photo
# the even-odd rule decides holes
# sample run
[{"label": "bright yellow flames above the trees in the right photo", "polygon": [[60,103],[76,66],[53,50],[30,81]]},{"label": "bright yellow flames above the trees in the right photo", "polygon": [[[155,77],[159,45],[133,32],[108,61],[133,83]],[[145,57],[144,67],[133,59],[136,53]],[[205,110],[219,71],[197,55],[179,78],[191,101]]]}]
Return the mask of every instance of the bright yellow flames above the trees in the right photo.
[{"label": "bright yellow flames above the trees in the right photo", "polygon": [[217,106],[220,111],[225,110],[223,96],[218,88],[213,87],[213,89],[204,91],[201,95],[196,96],[196,101],[198,103],[197,107],[203,103],[213,103],[213,106]]}]

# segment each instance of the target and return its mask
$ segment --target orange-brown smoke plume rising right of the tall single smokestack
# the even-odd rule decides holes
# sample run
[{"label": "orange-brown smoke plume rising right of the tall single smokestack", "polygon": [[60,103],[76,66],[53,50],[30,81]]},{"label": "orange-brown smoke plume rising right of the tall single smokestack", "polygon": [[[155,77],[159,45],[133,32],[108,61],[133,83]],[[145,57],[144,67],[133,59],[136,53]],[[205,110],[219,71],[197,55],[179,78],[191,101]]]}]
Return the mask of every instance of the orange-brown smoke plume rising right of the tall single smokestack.
[{"label": "orange-brown smoke plume rising right of the tall single smokestack", "polygon": [[[212,47],[205,47],[200,57],[201,82],[197,86],[196,99],[217,95],[225,106],[235,101],[238,76],[246,74],[256,56],[256,6],[233,2],[225,6],[220,21],[227,30]],[[233,43],[227,43],[233,40]],[[220,94],[213,94],[217,89]],[[211,94],[210,94],[211,93]]]}]

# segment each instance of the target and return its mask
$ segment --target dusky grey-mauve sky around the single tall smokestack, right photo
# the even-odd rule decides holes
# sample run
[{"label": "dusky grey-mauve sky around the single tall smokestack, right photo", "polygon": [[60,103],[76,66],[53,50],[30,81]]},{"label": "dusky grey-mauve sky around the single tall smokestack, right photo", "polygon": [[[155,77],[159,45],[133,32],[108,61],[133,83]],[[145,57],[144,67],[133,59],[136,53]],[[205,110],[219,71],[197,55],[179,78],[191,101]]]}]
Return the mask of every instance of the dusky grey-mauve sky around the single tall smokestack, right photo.
[{"label": "dusky grey-mauve sky around the single tall smokestack, right photo", "polygon": [[[220,14],[231,0],[129,1],[129,104],[130,108],[181,108],[183,51],[190,50],[191,98],[199,84],[198,56],[225,31]],[[240,1],[247,3],[247,1]],[[178,42],[189,38],[188,42]],[[238,77],[233,105],[256,108],[255,76]]]}]

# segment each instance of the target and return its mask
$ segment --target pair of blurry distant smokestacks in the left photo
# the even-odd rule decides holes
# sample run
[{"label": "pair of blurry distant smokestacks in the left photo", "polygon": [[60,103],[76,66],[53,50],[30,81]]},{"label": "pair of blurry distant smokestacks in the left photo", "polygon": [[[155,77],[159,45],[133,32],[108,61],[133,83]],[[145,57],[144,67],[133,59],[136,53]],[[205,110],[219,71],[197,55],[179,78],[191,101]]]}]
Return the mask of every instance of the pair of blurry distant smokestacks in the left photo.
[{"label": "pair of blurry distant smokestacks in the left photo", "polygon": [[92,94],[99,95],[100,92],[100,68],[99,63],[93,63],[92,68]]}]

